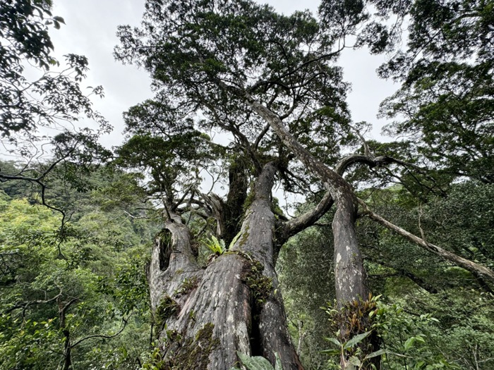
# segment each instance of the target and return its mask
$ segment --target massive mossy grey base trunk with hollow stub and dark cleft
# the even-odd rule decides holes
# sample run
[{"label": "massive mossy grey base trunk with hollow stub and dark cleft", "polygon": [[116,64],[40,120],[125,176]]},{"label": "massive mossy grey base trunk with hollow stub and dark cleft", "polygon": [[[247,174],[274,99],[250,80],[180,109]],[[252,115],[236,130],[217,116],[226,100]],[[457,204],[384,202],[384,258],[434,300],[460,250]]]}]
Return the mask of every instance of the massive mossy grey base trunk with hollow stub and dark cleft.
[{"label": "massive mossy grey base trunk with hollow stub and dark cleft", "polygon": [[255,183],[239,238],[229,251],[198,266],[188,227],[170,214],[157,237],[148,278],[162,368],[230,369],[236,351],[261,355],[284,370],[302,369],[277,289],[271,211],[276,168]]}]

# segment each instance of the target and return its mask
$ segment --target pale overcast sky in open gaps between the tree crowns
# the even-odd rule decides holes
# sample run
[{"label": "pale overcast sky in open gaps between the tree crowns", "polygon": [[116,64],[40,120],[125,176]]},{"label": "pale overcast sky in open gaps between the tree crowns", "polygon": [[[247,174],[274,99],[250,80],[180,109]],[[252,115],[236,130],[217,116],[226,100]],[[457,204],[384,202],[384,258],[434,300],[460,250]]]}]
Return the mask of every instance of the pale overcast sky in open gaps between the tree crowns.
[{"label": "pale overcast sky in open gaps between the tree crowns", "polygon": [[[286,14],[305,8],[315,13],[319,4],[317,0],[266,2]],[[114,132],[103,139],[107,146],[121,142],[122,112],[152,97],[147,73],[135,66],[123,66],[112,56],[118,43],[116,27],[138,25],[143,10],[144,0],[54,0],[54,15],[63,17],[66,22],[60,30],[50,30],[56,56],[60,59],[68,53],[87,56],[90,71],[83,83],[104,87],[105,97],[95,99],[95,108],[114,126]],[[339,58],[344,78],[352,84],[348,102],[353,120],[373,123],[373,131],[366,135],[368,138],[378,138],[384,124],[375,117],[379,103],[395,90],[392,82],[376,77],[375,69],[382,61],[382,56],[370,56],[365,50],[348,50]]]}]

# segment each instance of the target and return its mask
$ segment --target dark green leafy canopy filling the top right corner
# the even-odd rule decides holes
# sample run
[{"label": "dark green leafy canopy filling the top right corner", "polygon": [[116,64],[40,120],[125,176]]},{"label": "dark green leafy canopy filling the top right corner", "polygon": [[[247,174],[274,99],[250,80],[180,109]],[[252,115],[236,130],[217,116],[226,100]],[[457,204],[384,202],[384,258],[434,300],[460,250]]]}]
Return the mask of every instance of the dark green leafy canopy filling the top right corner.
[{"label": "dark green leafy canopy filling the top right corner", "polygon": [[320,11],[356,47],[387,54],[378,73],[402,82],[381,105],[396,120],[387,133],[411,140],[428,166],[493,182],[492,1],[324,0]]}]

